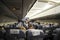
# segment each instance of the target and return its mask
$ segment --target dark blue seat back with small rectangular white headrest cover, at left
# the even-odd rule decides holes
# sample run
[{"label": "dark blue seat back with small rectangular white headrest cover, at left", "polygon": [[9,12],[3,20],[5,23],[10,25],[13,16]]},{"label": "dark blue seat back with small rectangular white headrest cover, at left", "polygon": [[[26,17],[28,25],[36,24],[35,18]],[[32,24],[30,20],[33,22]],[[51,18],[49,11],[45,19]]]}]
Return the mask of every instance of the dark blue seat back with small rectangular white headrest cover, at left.
[{"label": "dark blue seat back with small rectangular white headrest cover, at left", "polygon": [[[17,31],[16,31],[17,30]],[[25,38],[25,33],[20,29],[8,29],[6,30],[6,39],[7,40],[16,40],[20,38]]]}]

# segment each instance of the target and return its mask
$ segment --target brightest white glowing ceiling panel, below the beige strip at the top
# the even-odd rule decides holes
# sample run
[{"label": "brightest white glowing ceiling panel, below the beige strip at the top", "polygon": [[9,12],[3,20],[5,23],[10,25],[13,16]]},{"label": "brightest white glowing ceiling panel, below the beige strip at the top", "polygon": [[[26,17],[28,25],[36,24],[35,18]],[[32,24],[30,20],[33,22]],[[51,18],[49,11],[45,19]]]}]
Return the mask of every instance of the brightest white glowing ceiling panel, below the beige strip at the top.
[{"label": "brightest white glowing ceiling panel, below the beige strip at the top", "polygon": [[49,3],[43,3],[43,2],[36,2],[34,6],[30,9],[30,11],[27,13],[26,17],[34,16],[44,10],[47,10],[51,8],[53,5],[50,5]]}]

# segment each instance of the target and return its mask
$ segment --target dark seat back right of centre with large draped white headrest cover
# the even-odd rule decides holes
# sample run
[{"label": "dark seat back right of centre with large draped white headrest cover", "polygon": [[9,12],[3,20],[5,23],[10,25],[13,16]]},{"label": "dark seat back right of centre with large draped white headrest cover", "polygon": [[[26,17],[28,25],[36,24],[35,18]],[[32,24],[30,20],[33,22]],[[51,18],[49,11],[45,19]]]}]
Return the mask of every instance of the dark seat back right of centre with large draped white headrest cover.
[{"label": "dark seat back right of centre with large draped white headrest cover", "polygon": [[27,40],[43,40],[43,31],[41,30],[28,30]]}]

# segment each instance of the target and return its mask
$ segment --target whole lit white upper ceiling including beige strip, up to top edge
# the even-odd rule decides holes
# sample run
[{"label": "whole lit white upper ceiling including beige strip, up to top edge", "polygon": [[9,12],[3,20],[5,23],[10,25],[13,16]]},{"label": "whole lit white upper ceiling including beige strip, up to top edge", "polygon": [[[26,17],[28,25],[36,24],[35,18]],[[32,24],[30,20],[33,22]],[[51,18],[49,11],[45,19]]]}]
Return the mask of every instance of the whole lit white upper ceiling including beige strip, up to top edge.
[{"label": "whole lit white upper ceiling including beige strip, up to top edge", "polygon": [[50,9],[59,3],[60,3],[60,0],[37,0],[25,17],[30,18],[37,14],[41,14],[45,10]]}]

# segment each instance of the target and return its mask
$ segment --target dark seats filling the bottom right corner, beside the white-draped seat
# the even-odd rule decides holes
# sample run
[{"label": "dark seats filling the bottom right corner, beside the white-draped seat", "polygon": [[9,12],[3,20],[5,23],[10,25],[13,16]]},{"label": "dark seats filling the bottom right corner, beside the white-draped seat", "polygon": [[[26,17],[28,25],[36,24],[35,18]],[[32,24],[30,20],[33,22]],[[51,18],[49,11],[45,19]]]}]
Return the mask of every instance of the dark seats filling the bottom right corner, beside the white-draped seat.
[{"label": "dark seats filling the bottom right corner, beside the white-draped seat", "polygon": [[49,31],[43,40],[60,40],[60,28],[56,28],[53,32]]}]

